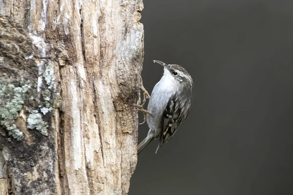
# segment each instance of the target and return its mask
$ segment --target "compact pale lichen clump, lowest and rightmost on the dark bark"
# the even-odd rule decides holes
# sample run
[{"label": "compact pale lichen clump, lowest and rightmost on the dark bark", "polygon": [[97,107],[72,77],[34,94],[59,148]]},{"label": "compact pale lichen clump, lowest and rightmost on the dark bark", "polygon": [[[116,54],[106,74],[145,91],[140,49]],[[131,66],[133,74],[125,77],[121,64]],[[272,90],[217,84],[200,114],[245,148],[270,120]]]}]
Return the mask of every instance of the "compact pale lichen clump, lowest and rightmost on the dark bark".
[{"label": "compact pale lichen clump, lowest and rightmost on the dark bark", "polygon": [[42,120],[42,115],[40,113],[38,113],[37,110],[34,110],[27,117],[27,128],[29,128],[29,129],[37,129],[39,132],[41,132],[42,135],[48,136],[47,122]]}]

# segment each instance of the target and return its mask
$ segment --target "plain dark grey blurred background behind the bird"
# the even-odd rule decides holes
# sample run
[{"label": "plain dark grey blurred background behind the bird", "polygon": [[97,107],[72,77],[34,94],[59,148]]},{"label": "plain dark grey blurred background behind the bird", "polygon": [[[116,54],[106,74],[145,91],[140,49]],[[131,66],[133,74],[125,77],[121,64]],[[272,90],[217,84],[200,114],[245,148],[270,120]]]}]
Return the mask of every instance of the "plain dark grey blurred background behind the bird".
[{"label": "plain dark grey blurred background behind the bird", "polygon": [[138,156],[129,195],[293,195],[293,0],[144,5],[146,89],[158,59],[184,66],[194,90],[176,135]]}]

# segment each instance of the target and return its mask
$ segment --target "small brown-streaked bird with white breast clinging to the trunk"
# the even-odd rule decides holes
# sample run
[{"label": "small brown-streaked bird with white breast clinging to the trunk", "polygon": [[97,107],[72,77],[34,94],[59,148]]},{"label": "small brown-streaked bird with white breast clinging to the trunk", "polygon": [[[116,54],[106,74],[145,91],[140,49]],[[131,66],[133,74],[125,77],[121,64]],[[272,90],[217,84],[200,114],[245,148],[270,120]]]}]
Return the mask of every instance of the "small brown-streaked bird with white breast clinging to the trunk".
[{"label": "small brown-streaked bird with white breast clinging to the trunk", "polygon": [[138,145],[137,154],[160,137],[157,153],[186,119],[192,101],[193,80],[187,70],[177,64],[166,64],[159,60],[153,62],[164,67],[164,74],[150,95],[146,116],[149,131]]}]

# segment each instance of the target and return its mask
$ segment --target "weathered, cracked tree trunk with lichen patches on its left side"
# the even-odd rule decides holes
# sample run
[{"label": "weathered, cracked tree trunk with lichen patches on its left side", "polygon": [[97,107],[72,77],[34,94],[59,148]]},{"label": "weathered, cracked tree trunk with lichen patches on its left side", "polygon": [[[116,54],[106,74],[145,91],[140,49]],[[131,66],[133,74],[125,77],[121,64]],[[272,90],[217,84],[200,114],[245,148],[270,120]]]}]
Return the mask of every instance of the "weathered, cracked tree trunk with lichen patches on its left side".
[{"label": "weathered, cracked tree trunk with lichen patches on its left side", "polygon": [[142,0],[0,0],[0,193],[127,194]]}]

